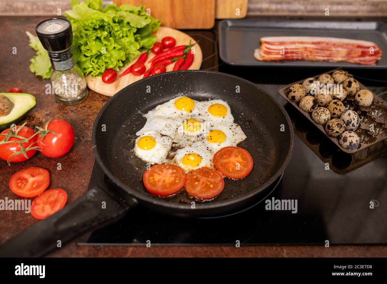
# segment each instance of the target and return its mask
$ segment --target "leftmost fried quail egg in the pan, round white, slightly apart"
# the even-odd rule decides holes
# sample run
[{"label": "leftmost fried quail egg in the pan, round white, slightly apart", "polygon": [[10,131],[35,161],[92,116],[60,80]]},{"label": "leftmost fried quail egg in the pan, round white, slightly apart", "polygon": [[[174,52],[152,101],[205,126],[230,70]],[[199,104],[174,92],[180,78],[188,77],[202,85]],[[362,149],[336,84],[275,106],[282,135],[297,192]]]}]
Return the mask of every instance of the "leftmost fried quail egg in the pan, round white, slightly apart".
[{"label": "leftmost fried quail egg in the pan, round white, slightly apart", "polygon": [[135,154],[145,162],[162,163],[171,149],[172,139],[156,131],[147,131],[137,137],[134,145]]}]

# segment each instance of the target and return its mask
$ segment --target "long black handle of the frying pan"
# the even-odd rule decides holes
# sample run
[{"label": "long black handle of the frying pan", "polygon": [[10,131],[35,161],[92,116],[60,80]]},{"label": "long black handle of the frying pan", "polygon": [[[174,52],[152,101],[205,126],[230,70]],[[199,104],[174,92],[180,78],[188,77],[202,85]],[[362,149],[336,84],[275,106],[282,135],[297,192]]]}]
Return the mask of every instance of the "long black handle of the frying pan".
[{"label": "long black handle of the frying pan", "polygon": [[0,257],[41,257],[58,249],[59,243],[63,246],[86,231],[113,223],[136,205],[137,201],[127,193],[113,198],[101,187],[94,187],[4,243]]}]

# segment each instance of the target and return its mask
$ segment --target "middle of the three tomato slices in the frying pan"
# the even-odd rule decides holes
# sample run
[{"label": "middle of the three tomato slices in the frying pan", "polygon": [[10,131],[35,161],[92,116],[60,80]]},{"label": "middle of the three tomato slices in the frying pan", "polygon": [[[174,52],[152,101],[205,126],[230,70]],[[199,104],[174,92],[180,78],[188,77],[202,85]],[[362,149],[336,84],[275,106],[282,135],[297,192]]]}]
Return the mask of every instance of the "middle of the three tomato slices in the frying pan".
[{"label": "middle of the three tomato slices in the frying pan", "polygon": [[223,175],[213,168],[198,168],[187,173],[185,190],[194,197],[210,199],[224,188]]}]

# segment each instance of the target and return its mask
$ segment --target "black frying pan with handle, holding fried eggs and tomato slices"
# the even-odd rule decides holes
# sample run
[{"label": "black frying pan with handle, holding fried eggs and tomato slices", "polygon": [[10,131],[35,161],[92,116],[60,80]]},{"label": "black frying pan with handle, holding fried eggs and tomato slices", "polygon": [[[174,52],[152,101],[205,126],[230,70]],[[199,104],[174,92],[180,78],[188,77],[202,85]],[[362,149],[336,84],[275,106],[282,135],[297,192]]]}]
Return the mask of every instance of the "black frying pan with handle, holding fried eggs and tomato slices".
[{"label": "black frying pan with handle, holding fried eggs and tomato slices", "polygon": [[[130,151],[135,133],[146,122],[142,114],[178,95],[195,100],[225,100],[235,122],[247,135],[238,146],[252,155],[252,172],[244,179],[226,179],[224,190],[212,201],[194,199],[184,189],[171,197],[148,193],[142,184],[146,163]],[[293,136],[291,121],[283,107],[255,84],[241,78],[186,70],[139,80],[114,95],[94,122],[94,155],[108,177],[103,188],[89,190],[58,213],[9,240],[0,247],[0,257],[45,255],[57,248],[58,243],[63,245],[81,233],[116,221],[138,203],[154,211],[184,217],[236,212],[262,198],[265,189],[281,175],[291,157]]]}]

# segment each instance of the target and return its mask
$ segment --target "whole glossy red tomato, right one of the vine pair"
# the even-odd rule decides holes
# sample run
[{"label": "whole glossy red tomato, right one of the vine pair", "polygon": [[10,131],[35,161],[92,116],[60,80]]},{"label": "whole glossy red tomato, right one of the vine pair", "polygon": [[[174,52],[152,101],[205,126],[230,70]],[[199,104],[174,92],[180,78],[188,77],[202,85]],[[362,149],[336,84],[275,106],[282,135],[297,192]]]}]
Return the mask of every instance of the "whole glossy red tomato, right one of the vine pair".
[{"label": "whole glossy red tomato, right one of the vine pair", "polygon": [[[38,147],[43,155],[50,158],[59,158],[67,154],[74,144],[74,129],[72,126],[62,119],[50,121],[47,130],[48,132],[38,134]],[[43,138],[42,138],[43,136]]]}]

